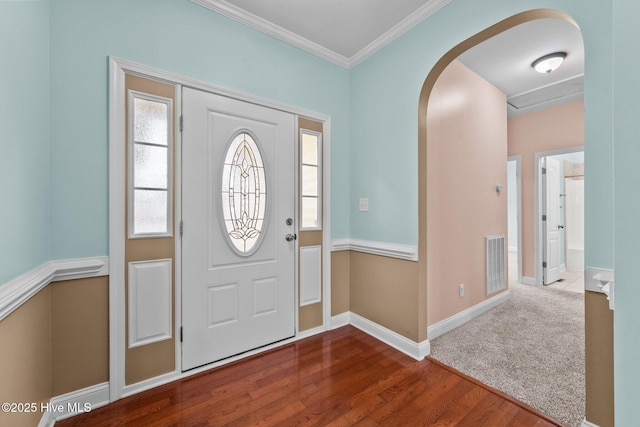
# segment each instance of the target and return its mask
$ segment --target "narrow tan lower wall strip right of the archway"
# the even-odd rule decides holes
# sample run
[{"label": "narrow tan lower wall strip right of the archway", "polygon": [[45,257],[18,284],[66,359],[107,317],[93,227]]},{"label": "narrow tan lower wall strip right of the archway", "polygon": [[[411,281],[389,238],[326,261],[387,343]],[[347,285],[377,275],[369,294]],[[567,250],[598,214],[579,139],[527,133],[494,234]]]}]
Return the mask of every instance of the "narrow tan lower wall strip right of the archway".
[{"label": "narrow tan lower wall strip right of the archway", "polygon": [[604,294],[587,291],[585,304],[586,419],[614,425],[613,311]]}]

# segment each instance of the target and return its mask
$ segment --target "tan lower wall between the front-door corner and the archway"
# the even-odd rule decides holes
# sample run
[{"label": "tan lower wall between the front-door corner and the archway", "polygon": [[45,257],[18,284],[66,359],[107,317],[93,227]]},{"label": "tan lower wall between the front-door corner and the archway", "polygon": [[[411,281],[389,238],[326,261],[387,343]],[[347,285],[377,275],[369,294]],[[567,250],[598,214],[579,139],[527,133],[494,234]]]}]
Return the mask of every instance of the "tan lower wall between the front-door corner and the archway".
[{"label": "tan lower wall between the front-door corner and the archway", "polygon": [[351,311],[419,342],[418,263],[350,252]]}]

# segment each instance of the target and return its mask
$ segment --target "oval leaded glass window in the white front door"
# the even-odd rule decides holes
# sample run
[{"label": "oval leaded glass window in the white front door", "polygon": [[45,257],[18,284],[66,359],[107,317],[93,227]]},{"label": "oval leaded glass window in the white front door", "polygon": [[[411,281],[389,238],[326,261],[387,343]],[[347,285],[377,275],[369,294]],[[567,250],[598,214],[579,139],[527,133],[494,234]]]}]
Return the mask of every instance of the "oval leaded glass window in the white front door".
[{"label": "oval leaded glass window in the white front door", "polygon": [[222,212],[233,248],[248,255],[263,233],[267,186],[262,155],[247,133],[238,134],[227,149],[222,169]]}]

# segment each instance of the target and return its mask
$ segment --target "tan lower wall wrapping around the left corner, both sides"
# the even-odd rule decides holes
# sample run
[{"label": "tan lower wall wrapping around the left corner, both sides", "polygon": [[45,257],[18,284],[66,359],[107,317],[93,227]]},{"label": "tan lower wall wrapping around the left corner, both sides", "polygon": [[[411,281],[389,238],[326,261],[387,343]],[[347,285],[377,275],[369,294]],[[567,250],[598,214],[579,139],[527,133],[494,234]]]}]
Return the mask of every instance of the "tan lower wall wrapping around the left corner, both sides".
[{"label": "tan lower wall wrapping around the left corner, both sides", "polygon": [[37,404],[0,426],[38,425],[41,403],[109,381],[108,277],[49,284],[0,321],[0,343],[0,402]]}]

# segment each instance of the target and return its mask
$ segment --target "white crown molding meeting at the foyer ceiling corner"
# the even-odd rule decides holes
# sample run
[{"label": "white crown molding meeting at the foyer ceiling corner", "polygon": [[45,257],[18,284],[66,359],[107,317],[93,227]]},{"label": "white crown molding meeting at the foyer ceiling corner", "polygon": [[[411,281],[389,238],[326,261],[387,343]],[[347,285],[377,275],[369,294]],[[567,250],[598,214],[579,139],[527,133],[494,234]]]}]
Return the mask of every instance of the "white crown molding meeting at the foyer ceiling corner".
[{"label": "white crown molding meeting at the foyer ceiling corner", "polygon": [[424,6],[400,21],[376,40],[369,43],[351,58],[347,58],[224,0],[191,1],[347,69],[355,67],[451,2],[451,0],[428,1]]}]

